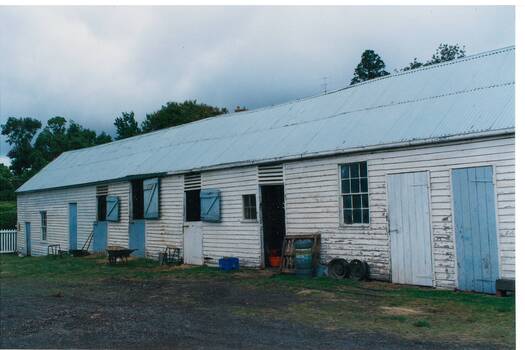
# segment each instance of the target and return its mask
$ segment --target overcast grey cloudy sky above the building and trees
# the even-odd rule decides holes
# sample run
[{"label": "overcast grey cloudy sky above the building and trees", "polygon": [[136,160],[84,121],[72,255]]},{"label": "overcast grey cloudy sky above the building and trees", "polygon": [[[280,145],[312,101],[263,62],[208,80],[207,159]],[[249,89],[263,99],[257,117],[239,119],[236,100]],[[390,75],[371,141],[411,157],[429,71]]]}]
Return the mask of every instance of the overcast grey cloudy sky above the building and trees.
[{"label": "overcast grey cloudy sky above the building and trees", "polygon": [[[249,109],[342,88],[373,49],[392,72],[440,43],[514,45],[512,6],[0,7],[0,124],[63,116],[114,135],[168,101]],[[0,137],[0,162],[9,145]]]}]

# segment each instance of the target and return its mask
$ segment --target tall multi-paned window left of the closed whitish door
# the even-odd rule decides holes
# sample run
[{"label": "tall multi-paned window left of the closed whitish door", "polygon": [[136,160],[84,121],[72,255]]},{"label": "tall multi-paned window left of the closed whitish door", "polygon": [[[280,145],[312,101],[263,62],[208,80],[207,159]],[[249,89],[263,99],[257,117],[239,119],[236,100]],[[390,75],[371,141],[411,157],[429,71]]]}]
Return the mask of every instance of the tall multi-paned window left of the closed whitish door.
[{"label": "tall multi-paned window left of the closed whitish door", "polygon": [[366,162],[341,165],[341,196],[345,224],[370,222]]}]

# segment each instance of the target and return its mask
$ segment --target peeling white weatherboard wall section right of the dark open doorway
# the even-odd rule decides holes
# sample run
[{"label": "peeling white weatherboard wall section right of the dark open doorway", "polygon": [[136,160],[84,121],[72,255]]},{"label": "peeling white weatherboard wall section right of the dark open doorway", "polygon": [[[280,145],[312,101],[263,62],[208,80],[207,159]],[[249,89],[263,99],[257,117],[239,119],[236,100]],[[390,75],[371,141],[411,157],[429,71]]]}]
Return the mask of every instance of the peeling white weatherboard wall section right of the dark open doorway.
[{"label": "peeling white weatherboard wall section right of the dark open doorway", "polygon": [[[339,164],[368,162],[369,225],[339,215]],[[456,287],[450,171],[495,167],[500,275],[514,278],[514,138],[433,145],[389,152],[302,160],[285,165],[287,234],[321,233],[322,260],[364,259],[374,278],[390,279],[386,175],[429,171],[434,285]]]}]

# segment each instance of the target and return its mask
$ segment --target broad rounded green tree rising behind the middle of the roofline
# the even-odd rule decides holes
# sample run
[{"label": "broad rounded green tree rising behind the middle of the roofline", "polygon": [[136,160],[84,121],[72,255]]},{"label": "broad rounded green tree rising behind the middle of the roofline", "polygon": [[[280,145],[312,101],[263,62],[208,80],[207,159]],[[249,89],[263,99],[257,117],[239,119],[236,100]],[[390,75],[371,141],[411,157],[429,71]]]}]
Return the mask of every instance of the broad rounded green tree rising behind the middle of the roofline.
[{"label": "broad rounded green tree rising behind the middle of the roofline", "polygon": [[219,108],[197,103],[197,101],[168,102],[160,110],[146,115],[142,122],[142,132],[150,132],[190,123],[196,120],[228,113],[226,108]]}]

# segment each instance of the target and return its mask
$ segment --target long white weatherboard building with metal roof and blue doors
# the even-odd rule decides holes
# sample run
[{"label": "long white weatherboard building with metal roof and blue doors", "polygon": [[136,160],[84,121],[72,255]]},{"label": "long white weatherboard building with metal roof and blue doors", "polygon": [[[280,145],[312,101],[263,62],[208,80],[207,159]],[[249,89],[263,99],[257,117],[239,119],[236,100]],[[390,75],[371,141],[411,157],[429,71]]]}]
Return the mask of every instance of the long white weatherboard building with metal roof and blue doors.
[{"label": "long white weatherboard building with metal roof and blue doors", "polygon": [[259,267],[320,233],[396,283],[514,279],[514,47],[65,152],[18,189],[19,247]]}]

